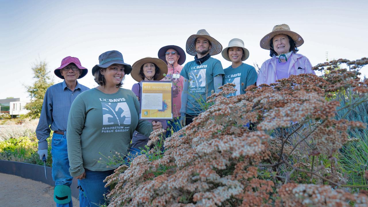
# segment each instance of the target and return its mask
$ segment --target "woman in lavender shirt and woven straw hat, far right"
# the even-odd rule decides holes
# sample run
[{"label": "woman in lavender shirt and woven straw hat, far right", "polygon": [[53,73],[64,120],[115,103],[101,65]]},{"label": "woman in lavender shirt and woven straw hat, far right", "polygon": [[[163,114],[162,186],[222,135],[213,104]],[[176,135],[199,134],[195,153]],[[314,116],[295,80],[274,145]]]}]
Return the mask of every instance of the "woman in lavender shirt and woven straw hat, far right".
[{"label": "woman in lavender shirt and woven straw hat, far right", "polygon": [[261,39],[261,48],[270,50],[271,59],[266,60],[259,70],[257,85],[275,83],[290,75],[312,73],[308,58],[297,54],[297,47],[304,43],[296,32],[290,31],[287,24],[276,25],[272,32]]}]

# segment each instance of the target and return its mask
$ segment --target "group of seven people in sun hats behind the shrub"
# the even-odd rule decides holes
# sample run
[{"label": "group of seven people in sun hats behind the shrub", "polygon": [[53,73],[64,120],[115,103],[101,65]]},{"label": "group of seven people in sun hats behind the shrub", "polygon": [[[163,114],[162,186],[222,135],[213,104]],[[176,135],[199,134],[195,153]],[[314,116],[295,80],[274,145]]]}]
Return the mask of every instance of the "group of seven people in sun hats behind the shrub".
[{"label": "group of seven people in sun hats behind the shrub", "polygon": [[[124,62],[123,55],[107,51],[99,56],[99,64],[92,68],[96,88],[89,89],[78,83],[88,70],[76,57],[66,57],[54,70],[62,83],[52,85],[45,94],[36,135],[39,139],[40,159],[47,158],[47,138],[52,137],[52,177],[55,181],[56,206],[72,206],[70,185],[78,179],[80,206],[98,206],[105,203],[109,192],[103,180],[113,173],[99,162],[101,155],[138,151],[144,147],[149,134],[156,129],[178,131],[190,124],[204,111],[203,105],[211,92],[234,83],[244,94],[254,85],[271,84],[291,74],[314,73],[307,57],[298,54],[297,47],[304,40],[286,24],[276,25],[260,42],[261,48],[270,50],[257,75],[253,66],[243,63],[249,57],[241,39],[231,39],[222,45],[205,29],[191,35],[186,52],[194,60],[183,67],[186,55],[183,49],[167,45],[158,51],[158,58],[145,57],[132,66]],[[219,60],[211,57],[222,53],[231,65],[223,69]],[[124,76],[131,74],[138,83],[132,89],[121,88]],[[141,81],[171,81],[173,83],[173,120],[139,120]],[[111,166],[111,167],[118,167]]]}]

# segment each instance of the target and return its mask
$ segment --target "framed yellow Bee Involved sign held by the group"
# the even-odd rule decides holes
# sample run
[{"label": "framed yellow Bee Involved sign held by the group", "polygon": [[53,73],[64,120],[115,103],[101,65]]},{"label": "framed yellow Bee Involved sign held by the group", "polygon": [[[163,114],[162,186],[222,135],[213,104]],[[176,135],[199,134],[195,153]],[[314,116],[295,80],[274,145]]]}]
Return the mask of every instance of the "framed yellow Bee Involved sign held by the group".
[{"label": "framed yellow Bee Involved sign held by the group", "polygon": [[173,119],[173,83],[171,81],[141,81],[139,119]]}]

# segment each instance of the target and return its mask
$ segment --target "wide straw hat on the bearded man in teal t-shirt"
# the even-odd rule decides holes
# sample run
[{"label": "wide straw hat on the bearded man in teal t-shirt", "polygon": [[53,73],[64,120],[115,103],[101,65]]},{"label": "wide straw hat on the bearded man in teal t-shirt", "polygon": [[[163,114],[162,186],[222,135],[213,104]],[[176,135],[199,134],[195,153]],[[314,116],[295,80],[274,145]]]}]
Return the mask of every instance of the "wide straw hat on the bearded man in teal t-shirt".
[{"label": "wide straw hat on the bearded man in teal t-shirt", "polygon": [[197,55],[197,50],[195,49],[195,40],[199,37],[208,39],[211,44],[211,49],[209,50],[210,55],[217,55],[222,51],[222,45],[215,38],[211,37],[205,29],[198,30],[197,34],[191,35],[187,39],[187,45],[185,49],[189,55]]}]

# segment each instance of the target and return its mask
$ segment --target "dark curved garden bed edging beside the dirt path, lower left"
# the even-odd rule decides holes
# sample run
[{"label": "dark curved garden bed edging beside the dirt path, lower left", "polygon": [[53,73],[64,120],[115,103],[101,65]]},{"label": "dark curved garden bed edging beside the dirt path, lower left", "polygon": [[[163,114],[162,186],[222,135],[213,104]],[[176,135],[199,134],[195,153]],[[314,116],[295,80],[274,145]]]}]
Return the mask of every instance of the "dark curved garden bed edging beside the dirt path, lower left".
[{"label": "dark curved garden bed edging beside the dirt path, lower left", "polygon": [[[34,165],[24,162],[7,161],[0,159],[0,173],[20,176],[22,178],[31,179],[46,183],[50,186],[55,186],[55,181],[52,180],[52,168],[46,167],[47,179],[45,178],[45,167],[42,165]],[[78,180],[73,178],[70,186],[71,195],[78,199],[79,190]]]}]

